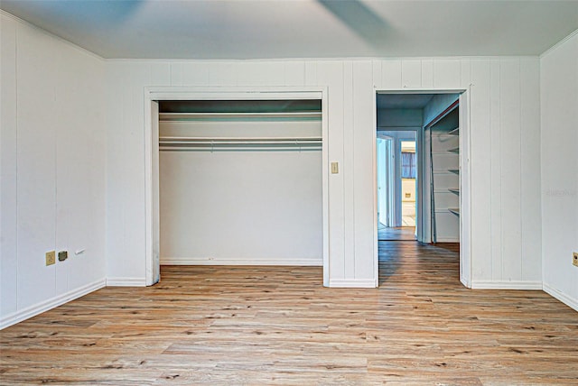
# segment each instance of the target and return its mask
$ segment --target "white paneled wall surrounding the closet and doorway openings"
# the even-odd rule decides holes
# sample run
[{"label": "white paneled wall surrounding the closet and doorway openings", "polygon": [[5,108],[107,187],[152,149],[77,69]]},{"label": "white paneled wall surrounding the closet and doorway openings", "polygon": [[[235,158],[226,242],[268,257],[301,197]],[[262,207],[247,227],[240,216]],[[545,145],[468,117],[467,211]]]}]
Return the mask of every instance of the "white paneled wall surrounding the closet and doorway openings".
[{"label": "white paneled wall surrounding the closet and doorway openings", "polygon": [[140,283],[145,86],[329,87],[329,160],[340,162],[329,180],[330,281],[367,286],[377,274],[374,87],[471,87],[473,285],[541,288],[537,58],[109,61],[107,275]]}]

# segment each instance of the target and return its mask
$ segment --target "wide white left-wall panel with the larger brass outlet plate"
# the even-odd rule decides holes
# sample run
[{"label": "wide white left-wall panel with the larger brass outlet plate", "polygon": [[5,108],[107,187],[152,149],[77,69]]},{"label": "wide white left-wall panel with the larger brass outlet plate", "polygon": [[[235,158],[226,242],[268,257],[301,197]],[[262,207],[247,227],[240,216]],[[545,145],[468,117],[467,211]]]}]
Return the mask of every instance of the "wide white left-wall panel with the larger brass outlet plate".
[{"label": "wide white left-wall panel with the larger brass outlet plate", "polygon": [[41,259],[56,248],[57,79],[45,74],[58,68],[51,38],[23,24],[17,33],[18,308],[26,308],[56,296],[57,268]]}]

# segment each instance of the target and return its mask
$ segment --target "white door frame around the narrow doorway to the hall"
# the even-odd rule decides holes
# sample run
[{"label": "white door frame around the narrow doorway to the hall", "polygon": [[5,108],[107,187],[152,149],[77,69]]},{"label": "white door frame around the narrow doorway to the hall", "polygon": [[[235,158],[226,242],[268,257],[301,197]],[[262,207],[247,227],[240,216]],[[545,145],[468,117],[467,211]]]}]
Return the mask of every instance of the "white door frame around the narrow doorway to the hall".
[{"label": "white door frame around the narrow doorway to the hall", "polygon": [[[378,94],[459,94],[460,101],[460,281],[471,288],[471,87],[467,88],[379,88],[374,87],[373,101],[373,195],[374,195],[374,263],[378,267],[378,173],[377,151],[378,138]],[[418,152],[418,194],[420,205],[418,213],[423,221],[423,173],[424,173],[424,135],[423,129],[416,135],[416,152]],[[421,170],[421,172],[420,172]],[[424,224],[421,228],[424,229]],[[418,234],[418,240],[423,239],[423,233]]]}]

